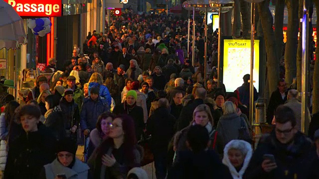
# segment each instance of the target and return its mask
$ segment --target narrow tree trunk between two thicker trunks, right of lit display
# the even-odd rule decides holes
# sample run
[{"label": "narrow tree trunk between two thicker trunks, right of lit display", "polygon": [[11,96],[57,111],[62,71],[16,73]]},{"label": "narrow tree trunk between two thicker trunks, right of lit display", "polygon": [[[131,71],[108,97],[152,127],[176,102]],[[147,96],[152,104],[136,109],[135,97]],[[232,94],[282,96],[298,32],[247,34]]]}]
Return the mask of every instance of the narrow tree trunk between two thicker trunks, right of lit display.
[{"label": "narrow tree trunk between two thicker trunks, right of lit display", "polygon": [[282,57],[283,47],[284,47],[284,10],[285,10],[285,0],[276,0],[276,10],[275,10],[275,38],[278,57]]}]

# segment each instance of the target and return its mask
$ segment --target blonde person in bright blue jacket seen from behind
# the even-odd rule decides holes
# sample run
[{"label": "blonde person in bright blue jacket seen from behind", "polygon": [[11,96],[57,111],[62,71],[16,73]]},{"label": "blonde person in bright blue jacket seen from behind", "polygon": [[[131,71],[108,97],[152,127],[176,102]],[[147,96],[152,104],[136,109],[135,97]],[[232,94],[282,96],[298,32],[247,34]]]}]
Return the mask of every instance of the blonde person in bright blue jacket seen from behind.
[{"label": "blonde person in bright blue jacket seen from behind", "polygon": [[112,104],[112,97],[109,92],[109,89],[103,85],[103,78],[101,74],[93,73],[90,80],[89,80],[89,95],[90,89],[92,87],[96,87],[100,89],[100,96],[103,97],[108,101],[108,104],[111,106]]}]

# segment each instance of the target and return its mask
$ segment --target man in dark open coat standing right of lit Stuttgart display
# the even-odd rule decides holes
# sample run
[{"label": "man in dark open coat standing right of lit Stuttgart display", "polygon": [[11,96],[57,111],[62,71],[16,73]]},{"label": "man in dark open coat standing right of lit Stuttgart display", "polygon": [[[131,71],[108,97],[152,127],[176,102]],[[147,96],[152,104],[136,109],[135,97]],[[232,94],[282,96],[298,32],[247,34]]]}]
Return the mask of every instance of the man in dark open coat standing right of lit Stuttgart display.
[{"label": "man in dark open coat standing right of lit Stuttgart display", "polygon": [[280,79],[278,84],[277,84],[277,90],[275,90],[269,100],[268,108],[267,108],[267,114],[266,114],[266,119],[267,123],[271,124],[273,117],[274,117],[274,112],[276,108],[284,104],[287,100],[287,84],[285,82],[285,79]]}]

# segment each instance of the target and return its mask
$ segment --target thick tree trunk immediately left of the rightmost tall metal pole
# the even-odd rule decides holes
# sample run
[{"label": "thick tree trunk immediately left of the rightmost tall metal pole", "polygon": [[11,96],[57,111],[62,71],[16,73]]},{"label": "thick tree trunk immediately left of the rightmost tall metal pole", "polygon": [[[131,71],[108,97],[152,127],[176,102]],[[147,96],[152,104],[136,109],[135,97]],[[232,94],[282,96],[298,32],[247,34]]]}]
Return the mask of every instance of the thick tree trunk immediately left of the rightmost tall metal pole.
[{"label": "thick tree trunk immediately left of the rightmost tall metal pole", "polygon": [[297,75],[298,0],[286,0],[288,8],[287,42],[285,49],[285,79],[288,85]]}]

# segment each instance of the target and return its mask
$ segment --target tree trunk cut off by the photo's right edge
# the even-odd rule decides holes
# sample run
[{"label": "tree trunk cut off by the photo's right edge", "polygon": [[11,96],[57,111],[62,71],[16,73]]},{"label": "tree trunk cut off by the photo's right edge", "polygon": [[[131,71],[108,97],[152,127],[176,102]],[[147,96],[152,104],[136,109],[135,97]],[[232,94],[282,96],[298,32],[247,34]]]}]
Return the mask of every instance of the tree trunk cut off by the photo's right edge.
[{"label": "tree trunk cut off by the photo's right edge", "polygon": [[[319,16],[319,0],[314,0],[317,9],[317,17]],[[319,19],[317,18],[317,34],[319,33]],[[318,41],[317,41],[318,44]],[[316,57],[319,57],[319,48],[316,48]],[[313,89],[313,114],[319,112],[319,60],[315,61],[314,70],[314,89]]]}]

